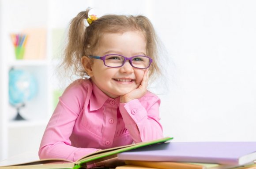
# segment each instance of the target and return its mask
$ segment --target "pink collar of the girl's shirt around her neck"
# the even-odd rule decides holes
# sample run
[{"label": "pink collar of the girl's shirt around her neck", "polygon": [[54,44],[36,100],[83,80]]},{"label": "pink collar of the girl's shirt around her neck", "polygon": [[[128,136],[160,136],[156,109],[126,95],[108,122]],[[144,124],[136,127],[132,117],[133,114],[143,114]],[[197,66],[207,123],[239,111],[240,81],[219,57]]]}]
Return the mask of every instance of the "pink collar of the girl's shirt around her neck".
[{"label": "pink collar of the girl's shirt around her neck", "polygon": [[119,104],[120,97],[112,99],[109,96],[107,96],[104,92],[102,92],[102,90],[100,90],[98,86],[96,86],[92,81],[91,83],[93,89],[90,96],[90,111],[100,109],[107,100],[115,100]]}]

